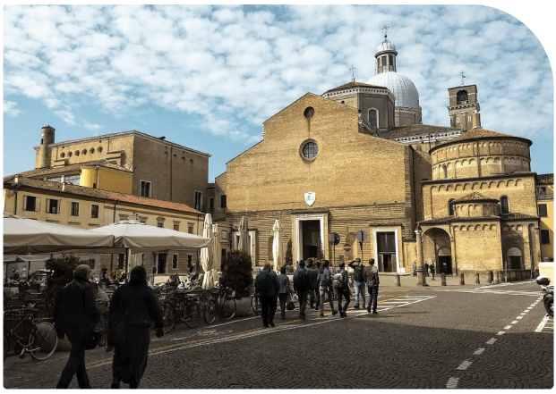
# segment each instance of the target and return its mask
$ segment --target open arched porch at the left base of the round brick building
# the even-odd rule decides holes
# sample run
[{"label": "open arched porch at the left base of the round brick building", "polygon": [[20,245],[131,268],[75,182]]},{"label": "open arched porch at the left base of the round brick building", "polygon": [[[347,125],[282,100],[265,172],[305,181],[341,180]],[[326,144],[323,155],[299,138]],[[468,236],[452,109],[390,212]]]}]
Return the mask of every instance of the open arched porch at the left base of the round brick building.
[{"label": "open arched porch at the left base of the round brick building", "polygon": [[427,264],[434,264],[437,274],[454,273],[448,232],[437,227],[424,231],[423,260]]}]

